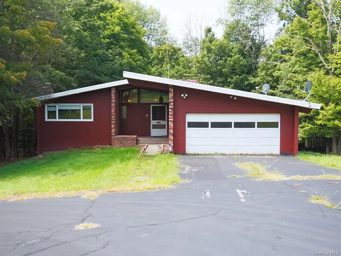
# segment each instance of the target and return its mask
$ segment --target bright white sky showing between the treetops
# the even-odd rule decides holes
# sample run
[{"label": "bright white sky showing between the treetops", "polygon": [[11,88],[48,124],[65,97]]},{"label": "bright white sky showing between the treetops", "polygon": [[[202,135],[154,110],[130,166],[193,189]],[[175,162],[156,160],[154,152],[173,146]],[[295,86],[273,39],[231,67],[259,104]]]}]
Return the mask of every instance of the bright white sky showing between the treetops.
[{"label": "bright white sky showing between the treetops", "polygon": [[[216,20],[224,18],[227,0],[140,0],[143,4],[152,5],[166,17],[170,34],[181,42],[182,28],[188,16],[203,20],[207,26],[212,26],[215,35],[219,38],[223,28],[216,26]],[[272,22],[265,30],[266,37],[273,39],[277,30],[276,22]]]}]

